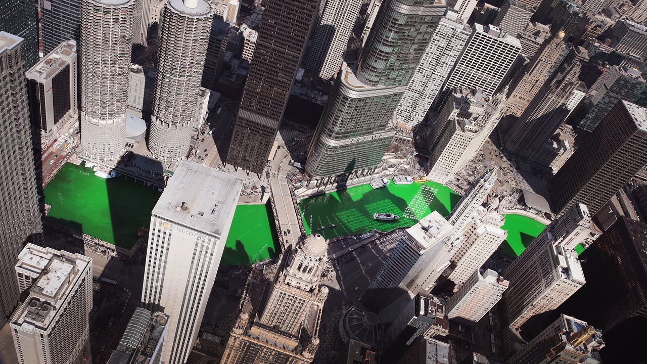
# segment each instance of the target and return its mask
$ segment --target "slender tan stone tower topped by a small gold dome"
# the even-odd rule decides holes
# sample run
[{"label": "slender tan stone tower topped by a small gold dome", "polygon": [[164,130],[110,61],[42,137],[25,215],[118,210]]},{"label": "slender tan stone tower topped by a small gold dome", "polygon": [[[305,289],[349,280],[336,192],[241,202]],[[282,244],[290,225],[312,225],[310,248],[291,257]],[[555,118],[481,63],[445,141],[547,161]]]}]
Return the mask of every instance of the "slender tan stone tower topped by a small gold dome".
[{"label": "slender tan stone tower topped by a small gold dome", "polygon": [[564,32],[557,32],[543,43],[532,58],[527,71],[520,73],[520,78],[510,82],[512,93],[506,102],[505,115],[521,116],[532,98],[549,80],[551,73],[562,63],[567,51],[567,46],[564,44]]}]

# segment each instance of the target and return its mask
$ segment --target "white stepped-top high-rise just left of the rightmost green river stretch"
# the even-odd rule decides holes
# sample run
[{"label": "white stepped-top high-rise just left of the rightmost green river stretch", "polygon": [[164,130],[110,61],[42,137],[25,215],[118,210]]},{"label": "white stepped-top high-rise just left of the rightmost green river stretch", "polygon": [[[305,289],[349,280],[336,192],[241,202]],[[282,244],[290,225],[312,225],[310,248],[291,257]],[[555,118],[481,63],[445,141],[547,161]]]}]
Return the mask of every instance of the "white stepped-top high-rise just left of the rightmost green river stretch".
[{"label": "white stepped-top high-rise just left of the rightmost green river stretch", "polygon": [[484,207],[479,207],[472,221],[463,230],[454,232],[457,241],[452,244],[455,248],[451,260],[455,267],[449,279],[463,284],[475,270],[483,266],[508,236],[501,229],[503,223],[503,216],[494,211],[488,213]]}]

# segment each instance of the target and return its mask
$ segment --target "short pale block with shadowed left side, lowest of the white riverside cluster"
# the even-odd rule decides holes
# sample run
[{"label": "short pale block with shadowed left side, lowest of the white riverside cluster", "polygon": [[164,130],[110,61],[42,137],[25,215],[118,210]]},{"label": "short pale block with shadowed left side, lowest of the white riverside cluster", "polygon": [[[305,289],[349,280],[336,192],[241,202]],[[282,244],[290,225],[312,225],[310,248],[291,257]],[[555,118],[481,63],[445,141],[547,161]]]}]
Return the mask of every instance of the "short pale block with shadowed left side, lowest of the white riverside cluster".
[{"label": "short pale block with shadowed left side, lowest of the white riverside cluster", "polygon": [[509,283],[492,269],[476,269],[447,301],[447,317],[476,324],[499,302]]}]

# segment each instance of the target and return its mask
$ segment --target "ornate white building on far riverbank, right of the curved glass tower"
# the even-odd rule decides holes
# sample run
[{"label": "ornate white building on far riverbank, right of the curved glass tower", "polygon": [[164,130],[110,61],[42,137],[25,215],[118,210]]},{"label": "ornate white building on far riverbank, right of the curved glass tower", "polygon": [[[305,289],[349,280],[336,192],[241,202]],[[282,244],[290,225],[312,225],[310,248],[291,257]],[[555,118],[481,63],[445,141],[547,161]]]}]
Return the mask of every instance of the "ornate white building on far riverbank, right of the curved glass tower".
[{"label": "ornate white building on far riverbank, right of the curved glass tower", "polygon": [[456,89],[430,130],[432,152],[427,178],[446,183],[483,146],[503,117],[505,92],[491,96],[480,89]]}]

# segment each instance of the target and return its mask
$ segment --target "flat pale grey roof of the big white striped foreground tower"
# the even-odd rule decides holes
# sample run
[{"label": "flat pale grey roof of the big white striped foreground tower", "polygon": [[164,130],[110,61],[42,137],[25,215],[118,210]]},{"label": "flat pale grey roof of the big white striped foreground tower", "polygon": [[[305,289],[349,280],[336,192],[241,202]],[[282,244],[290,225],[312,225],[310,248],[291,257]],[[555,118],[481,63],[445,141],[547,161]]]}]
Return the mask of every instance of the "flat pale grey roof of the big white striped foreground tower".
[{"label": "flat pale grey roof of the big white striped foreground tower", "polygon": [[238,177],[183,160],[152,214],[220,238],[231,223],[242,187]]}]

